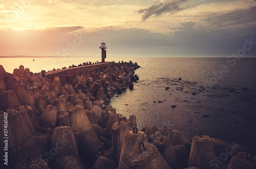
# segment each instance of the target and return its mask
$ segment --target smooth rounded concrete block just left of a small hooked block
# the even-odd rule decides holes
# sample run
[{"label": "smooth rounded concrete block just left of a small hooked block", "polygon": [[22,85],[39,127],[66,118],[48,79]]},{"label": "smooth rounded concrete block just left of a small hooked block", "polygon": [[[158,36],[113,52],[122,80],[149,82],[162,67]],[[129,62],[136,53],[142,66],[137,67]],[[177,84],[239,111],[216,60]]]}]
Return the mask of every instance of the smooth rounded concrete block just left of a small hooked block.
[{"label": "smooth rounded concrete block just left of a small hooked block", "polygon": [[58,115],[58,108],[52,105],[48,105],[45,111],[41,115],[41,126],[45,128],[49,128],[53,125],[56,127]]}]

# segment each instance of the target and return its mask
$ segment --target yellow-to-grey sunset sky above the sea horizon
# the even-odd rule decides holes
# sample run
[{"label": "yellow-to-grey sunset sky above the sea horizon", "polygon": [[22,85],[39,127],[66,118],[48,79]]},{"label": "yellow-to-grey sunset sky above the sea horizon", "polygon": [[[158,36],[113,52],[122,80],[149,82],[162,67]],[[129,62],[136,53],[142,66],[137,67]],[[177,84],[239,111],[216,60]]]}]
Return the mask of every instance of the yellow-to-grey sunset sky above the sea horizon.
[{"label": "yellow-to-grey sunset sky above the sea horizon", "polygon": [[98,56],[104,40],[108,57],[227,57],[256,42],[255,16],[255,0],[0,0],[0,56]]}]

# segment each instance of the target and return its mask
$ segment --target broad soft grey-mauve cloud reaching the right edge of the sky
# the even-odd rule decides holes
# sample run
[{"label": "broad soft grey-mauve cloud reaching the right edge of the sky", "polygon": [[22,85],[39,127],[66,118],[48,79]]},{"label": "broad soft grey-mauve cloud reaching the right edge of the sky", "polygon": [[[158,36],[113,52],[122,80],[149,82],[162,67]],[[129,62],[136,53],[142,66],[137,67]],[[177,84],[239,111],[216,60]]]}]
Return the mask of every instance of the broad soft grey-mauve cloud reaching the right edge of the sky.
[{"label": "broad soft grey-mauve cloud reaching the right edge of the sky", "polygon": [[256,25],[256,6],[233,10],[227,13],[213,13],[207,16],[204,21],[217,27],[247,27]]}]

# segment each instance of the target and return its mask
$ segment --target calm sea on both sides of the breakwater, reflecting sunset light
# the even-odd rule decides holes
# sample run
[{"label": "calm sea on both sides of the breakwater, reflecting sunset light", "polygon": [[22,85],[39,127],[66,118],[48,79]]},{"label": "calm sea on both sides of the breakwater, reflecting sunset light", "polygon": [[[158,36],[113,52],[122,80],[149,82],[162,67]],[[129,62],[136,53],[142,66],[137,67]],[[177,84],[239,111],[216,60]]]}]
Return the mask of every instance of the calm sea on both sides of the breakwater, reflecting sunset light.
[{"label": "calm sea on both sides of the breakwater, reflecting sunset light", "polygon": [[[0,58],[9,73],[19,65],[33,73],[96,62],[95,57]],[[115,94],[110,105],[137,126],[168,127],[187,139],[202,132],[239,143],[256,155],[256,58],[123,57],[133,61],[139,77],[134,89]]]}]

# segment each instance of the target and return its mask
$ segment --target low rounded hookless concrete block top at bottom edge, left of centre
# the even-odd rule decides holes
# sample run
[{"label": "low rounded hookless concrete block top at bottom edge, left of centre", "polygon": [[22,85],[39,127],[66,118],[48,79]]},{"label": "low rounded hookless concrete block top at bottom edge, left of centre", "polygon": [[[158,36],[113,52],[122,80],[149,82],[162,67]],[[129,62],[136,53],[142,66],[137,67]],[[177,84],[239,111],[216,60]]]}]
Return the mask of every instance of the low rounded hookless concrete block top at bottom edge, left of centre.
[{"label": "low rounded hookless concrete block top at bottom edge, left of centre", "polygon": [[115,169],[116,164],[113,160],[106,158],[106,157],[99,157],[95,164],[93,165],[92,169]]}]

